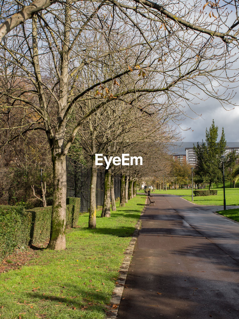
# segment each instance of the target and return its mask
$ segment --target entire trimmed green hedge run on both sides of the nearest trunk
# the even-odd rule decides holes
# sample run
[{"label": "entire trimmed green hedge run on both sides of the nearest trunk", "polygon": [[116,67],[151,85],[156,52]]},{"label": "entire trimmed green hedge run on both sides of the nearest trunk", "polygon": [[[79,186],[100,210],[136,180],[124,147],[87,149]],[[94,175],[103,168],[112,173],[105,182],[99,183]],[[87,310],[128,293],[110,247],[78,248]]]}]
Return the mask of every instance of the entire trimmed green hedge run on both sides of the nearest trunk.
[{"label": "entire trimmed green hedge run on both sides of the nearest trunk", "polygon": [[[15,247],[49,240],[52,206],[24,209],[0,205],[0,260]],[[80,214],[80,198],[67,198],[66,228],[75,227]]]}]

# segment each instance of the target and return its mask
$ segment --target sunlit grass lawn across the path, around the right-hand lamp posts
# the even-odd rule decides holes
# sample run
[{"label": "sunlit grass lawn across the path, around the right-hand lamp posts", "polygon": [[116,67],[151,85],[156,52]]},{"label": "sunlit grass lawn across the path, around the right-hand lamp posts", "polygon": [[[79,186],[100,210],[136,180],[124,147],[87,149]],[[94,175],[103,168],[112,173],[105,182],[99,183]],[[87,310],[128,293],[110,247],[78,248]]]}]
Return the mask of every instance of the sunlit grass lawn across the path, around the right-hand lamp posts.
[{"label": "sunlit grass lawn across the path, around the right-hand lamp posts", "polygon": [[[213,188],[215,189],[215,188]],[[223,205],[223,189],[217,189],[217,195],[211,196],[193,196],[193,203],[199,205]],[[144,191],[142,191],[144,192]],[[173,194],[182,196],[192,202],[192,189],[167,189],[167,191],[155,190],[157,194]],[[152,193],[153,194],[153,193]],[[239,188],[226,188],[225,197],[227,205],[239,205]]]}]

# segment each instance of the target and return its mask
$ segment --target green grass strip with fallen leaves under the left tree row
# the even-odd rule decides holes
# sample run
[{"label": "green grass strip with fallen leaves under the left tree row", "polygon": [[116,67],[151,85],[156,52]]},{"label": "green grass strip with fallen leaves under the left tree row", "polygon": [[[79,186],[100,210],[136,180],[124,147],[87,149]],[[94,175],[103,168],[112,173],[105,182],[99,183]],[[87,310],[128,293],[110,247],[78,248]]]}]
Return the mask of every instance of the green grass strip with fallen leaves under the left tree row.
[{"label": "green grass strip with fallen leaves under the left tree row", "polygon": [[1,273],[1,318],[103,319],[144,203],[137,195],[110,218],[98,211],[96,229],[87,228],[88,214],[80,216],[65,251],[38,250],[30,265]]}]

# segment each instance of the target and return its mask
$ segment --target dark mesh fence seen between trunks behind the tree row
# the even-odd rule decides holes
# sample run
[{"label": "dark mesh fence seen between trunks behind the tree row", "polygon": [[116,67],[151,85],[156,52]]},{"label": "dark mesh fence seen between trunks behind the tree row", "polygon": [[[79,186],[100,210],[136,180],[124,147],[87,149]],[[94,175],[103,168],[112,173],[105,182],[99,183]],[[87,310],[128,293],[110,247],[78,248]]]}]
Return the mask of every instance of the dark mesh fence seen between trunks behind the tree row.
[{"label": "dark mesh fence seen between trunks behind the tree row", "polygon": [[[90,208],[91,170],[66,157],[67,197],[80,197],[81,212]],[[102,206],[104,201],[104,170],[98,170],[96,181],[96,205]],[[120,175],[114,177],[115,198],[120,197]]]}]

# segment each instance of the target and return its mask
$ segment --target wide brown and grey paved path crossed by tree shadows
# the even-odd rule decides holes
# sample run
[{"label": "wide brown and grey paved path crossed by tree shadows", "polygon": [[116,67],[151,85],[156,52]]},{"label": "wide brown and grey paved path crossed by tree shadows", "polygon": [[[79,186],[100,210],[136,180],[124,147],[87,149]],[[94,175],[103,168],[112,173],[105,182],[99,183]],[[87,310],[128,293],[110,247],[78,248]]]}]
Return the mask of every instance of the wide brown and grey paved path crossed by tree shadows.
[{"label": "wide brown and grey paved path crossed by tree shadows", "polygon": [[213,213],[221,206],[154,199],[142,216],[117,319],[239,318],[239,224]]}]

